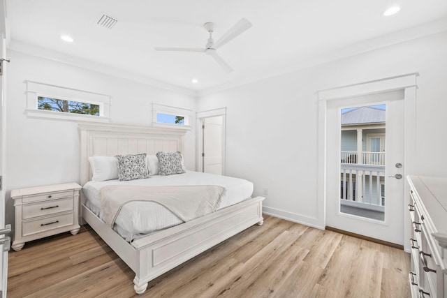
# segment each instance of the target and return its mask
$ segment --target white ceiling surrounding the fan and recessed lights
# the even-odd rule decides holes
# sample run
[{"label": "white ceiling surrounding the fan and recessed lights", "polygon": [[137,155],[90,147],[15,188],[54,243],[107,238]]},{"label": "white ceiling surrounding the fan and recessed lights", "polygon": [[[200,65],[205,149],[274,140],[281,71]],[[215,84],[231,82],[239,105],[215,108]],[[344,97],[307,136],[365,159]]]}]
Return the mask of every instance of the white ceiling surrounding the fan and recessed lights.
[{"label": "white ceiling surrounding the fan and recessed lights", "polygon": [[[400,13],[383,17],[392,4]],[[103,13],[118,20],[115,27],[96,24]],[[205,22],[216,24],[218,40],[242,17],[253,26],[218,50],[233,73],[203,53],[154,50],[205,47]],[[198,94],[317,63],[331,52],[342,56],[340,49],[444,31],[446,20],[446,0],[8,0],[13,50],[89,61]]]}]

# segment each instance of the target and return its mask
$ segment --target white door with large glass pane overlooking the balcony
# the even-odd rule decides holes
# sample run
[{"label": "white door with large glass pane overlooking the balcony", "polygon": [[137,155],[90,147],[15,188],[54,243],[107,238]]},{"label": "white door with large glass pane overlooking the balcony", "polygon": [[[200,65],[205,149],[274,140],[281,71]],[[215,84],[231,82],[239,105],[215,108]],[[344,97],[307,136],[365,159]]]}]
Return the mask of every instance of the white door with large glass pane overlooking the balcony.
[{"label": "white door with large glass pane overlooking the balcony", "polygon": [[[385,195],[385,214],[383,220],[377,220],[341,211],[340,193],[343,190],[342,184],[340,184],[342,170],[342,164],[340,163],[340,119],[342,108],[378,105],[383,103],[386,103],[386,137],[385,142],[383,142],[383,144],[386,144],[384,174],[385,188],[383,193]],[[404,177],[404,167],[396,167],[397,163],[404,164],[403,92],[394,91],[386,94],[331,100],[327,104],[326,112],[326,225],[339,230],[345,230],[403,245],[404,179],[402,177]],[[380,142],[380,140],[377,142]],[[375,144],[375,146],[379,146],[378,150],[380,150],[379,143]],[[372,168],[374,168],[374,165]],[[353,169],[355,169],[355,167],[353,167]],[[352,174],[353,171],[354,170],[350,169],[348,175]],[[372,176],[371,172],[368,173]],[[401,174],[402,176],[400,179],[396,179],[394,177],[395,174]],[[376,175],[377,181],[377,179],[379,179],[379,174],[374,173],[374,175]],[[357,174],[356,176],[358,177],[356,179],[356,184],[361,184],[363,179],[362,174]],[[373,183],[374,180],[371,179],[370,181]],[[363,183],[363,185],[365,185],[365,183]],[[382,193],[382,186],[380,184],[376,184],[376,186],[376,192]],[[355,189],[356,186],[349,186],[349,191],[351,191],[351,193]],[[361,201],[362,195],[365,196],[365,192],[358,192],[356,194],[356,201]]]}]

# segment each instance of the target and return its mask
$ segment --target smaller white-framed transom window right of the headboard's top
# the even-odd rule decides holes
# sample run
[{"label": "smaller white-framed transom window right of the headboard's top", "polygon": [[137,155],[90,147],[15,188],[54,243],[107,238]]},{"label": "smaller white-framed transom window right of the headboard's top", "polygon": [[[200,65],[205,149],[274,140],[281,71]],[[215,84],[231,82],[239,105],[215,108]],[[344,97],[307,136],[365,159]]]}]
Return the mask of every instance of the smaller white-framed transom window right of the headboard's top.
[{"label": "smaller white-framed transom window right of the headboard's top", "polygon": [[152,104],[152,123],[155,126],[177,126],[179,128],[191,129],[191,110],[169,105]]}]

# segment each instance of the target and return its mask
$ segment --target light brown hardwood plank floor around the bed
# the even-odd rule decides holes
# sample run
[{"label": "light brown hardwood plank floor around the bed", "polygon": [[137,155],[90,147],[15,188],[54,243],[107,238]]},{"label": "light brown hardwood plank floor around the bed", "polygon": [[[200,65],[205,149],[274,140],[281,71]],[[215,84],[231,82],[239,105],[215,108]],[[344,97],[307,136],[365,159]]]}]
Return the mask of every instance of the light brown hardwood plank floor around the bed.
[{"label": "light brown hardwood plank floor around the bed", "polygon": [[410,297],[404,251],[264,217],[149,282],[144,295],[88,225],[29,242],[10,252],[8,297]]}]

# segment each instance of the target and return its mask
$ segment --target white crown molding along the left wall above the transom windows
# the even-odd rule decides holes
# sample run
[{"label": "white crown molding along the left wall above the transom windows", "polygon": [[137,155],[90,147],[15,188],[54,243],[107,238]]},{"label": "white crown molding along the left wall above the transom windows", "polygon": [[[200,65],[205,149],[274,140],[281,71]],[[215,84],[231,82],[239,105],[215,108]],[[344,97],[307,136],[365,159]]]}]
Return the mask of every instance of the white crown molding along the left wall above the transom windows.
[{"label": "white crown molding along the left wall above the transom windows", "polygon": [[38,47],[36,45],[30,45],[29,43],[22,43],[18,40],[10,40],[8,45],[8,50],[20,52],[23,54],[29,54],[31,56],[40,57],[43,59],[48,59],[52,61],[57,61],[63,64],[68,64],[71,66],[77,66],[80,68],[85,68],[87,70],[96,71],[97,73],[103,73],[105,75],[111,75],[113,77],[119,77],[125,80],[131,80],[133,82],[139,82],[142,84],[147,84],[152,87],[161,88],[169,91],[174,91],[180,94],[185,94],[188,96],[197,96],[197,92],[191,89],[186,89],[184,87],[179,87],[175,84],[170,84],[168,82],[162,82],[155,80],[151,77],[146,77],[144,75],[138,75],[136,73],[129,72],[127,70],[122,70],[119,68],[113,68],[105,64],[99,64],[94,61],[89,61],[87,59],[81,59],[78,57],[73,57],[68,54],[61,52],[56,52],[52,50],[47,50],[43,47]]}]

